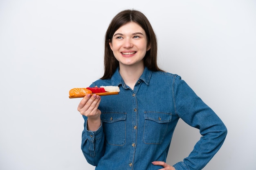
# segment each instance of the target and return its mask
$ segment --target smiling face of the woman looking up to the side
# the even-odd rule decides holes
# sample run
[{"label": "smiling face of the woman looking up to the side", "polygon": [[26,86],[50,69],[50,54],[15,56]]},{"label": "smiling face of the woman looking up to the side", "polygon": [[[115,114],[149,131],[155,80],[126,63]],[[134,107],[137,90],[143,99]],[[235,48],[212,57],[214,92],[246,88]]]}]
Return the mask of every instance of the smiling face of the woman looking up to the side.
[{"label": "smiling face of the woman looking up to the side", "polygon": [[143,64],[146,51],[150,49],[144,29],[135,22],[118,28],[109,45],[120,66]]}]

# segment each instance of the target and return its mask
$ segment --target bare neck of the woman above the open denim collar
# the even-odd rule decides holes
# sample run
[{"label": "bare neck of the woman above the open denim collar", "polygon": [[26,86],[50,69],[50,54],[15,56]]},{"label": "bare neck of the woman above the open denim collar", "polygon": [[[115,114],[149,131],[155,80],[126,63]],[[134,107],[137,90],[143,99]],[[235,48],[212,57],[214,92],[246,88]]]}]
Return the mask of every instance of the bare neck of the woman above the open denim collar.
[{"label": "bare neck of the woman above the open denim collar", "polygon": [[119,65],[119,73],[124,80],[124,83],[128,85],[132,90],[135,83],[138,81],[139,77],[144,71],[144,64],[135,66],[124,66]]}]

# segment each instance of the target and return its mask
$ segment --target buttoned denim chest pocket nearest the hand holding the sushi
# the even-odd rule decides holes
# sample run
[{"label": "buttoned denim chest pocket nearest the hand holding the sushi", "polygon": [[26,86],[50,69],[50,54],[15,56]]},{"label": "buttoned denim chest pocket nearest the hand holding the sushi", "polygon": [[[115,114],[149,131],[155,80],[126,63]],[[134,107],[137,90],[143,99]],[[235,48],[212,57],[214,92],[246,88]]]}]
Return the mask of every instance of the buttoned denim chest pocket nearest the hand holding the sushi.
[{"label": "buttoned denim chest pocket nearest the hand holding the sushi", "polygon": [[108,144],[123,146],[126,143],[126,113],[103,112],[101,121]]}]

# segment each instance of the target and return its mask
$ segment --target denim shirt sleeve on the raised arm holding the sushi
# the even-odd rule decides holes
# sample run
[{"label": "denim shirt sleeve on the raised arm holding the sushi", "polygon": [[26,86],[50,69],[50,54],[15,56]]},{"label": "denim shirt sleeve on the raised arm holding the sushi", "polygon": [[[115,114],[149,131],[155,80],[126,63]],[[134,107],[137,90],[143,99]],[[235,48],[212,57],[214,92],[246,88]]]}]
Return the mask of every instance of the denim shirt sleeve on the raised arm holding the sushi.
[{"label": "denim shirt sleeve on the raised arm holding the sushi", "polygon": [[84,130],[82,133],[81,149],[85,159],[93,166],[97,166],[104,153],[104,133],[102,122],[97,131],[88,131],[87,117],[83,116]]}]

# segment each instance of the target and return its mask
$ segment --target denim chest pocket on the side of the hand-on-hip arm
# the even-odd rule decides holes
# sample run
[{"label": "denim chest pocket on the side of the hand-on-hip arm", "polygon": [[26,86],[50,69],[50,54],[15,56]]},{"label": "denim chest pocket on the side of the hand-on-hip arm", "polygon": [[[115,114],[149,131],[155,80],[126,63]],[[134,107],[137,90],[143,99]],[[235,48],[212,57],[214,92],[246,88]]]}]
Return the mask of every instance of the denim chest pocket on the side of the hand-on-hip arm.
[{"label": "denim chest pocket on the side of the hand-on-hip arm", "polygon": [[162,144],[168,130],[168,123],[171,122],[171,113],[145,111],[144,117],[143,142]]}]

